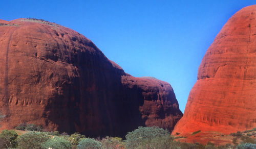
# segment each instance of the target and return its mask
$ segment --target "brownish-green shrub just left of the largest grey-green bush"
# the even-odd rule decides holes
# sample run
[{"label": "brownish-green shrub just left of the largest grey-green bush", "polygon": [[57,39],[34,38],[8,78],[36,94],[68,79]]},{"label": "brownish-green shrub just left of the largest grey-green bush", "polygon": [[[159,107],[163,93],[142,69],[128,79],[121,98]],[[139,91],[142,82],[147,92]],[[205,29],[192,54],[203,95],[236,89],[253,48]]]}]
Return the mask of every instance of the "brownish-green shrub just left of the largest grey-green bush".
[{"label": "brownish-green shrub just left of the largest grey-green bush", "polygon": [[102,148],[123,148],[122,138],[107,136],[103,138],[100,142],[102,143]]}]

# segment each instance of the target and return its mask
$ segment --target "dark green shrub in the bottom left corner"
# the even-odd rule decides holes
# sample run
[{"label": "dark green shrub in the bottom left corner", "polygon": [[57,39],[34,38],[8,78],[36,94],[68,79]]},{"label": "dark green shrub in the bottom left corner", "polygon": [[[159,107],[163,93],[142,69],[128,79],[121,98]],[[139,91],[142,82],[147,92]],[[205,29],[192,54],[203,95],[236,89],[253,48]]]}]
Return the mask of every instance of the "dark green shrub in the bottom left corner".
[{"label": "dark green shrub in the bottom left corner", "polygon": [[2,130],[0,134],[0,138],[6,140],[6,147],[16,147],[17,141],[16,138],[18,134],[14,130]]}]

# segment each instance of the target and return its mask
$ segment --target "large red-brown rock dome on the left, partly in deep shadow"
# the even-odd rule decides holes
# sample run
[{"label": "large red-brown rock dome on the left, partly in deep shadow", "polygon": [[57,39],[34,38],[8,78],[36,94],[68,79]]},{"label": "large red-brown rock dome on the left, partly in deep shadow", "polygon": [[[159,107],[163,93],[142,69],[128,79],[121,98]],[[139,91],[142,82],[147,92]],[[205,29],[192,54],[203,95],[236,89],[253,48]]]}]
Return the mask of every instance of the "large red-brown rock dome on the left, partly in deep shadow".
[{"label": "large red-brown rock dome on the left, partly in deep shadow", "polygon": [[172,87],[135,78],[81,34],[44,20],[0,20],[1,129],[121,136],[138,126],[172,131],[182,117]]}]

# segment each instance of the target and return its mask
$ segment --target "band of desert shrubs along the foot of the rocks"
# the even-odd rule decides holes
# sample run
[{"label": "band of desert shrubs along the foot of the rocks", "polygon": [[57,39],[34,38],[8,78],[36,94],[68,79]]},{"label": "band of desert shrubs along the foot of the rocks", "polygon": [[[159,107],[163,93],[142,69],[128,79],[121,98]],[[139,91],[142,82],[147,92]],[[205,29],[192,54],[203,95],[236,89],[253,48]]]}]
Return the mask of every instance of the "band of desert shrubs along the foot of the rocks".
[{"label": "band of desert shrubs along the foot of the rocks", "polygon": [[[232,143],[217,146],[212,142],[207,144],[179,142],[180,138],[170,135],[167,130],[159,127],[139,127],[126,134],[125,139],[106,136],[101,139],[88,138],[79,133],[42,132],[42,128],[33,124],[22,123],[17,129],[25,130],[18,136],[14,130],[3,130],[0,134],[0,148],[35,148],[35,149],[130,149],[130,148],[166,148],[166,149],[255,149],[256,139],[254,131],[231,133]],[[255,129],[252,129],[255,130]],[[192,134],[199,133],[196,131]],[[246,134],[247,133],[247,134]],[[249,134],[249,135],[248,135]],[[224,137],[224,135],[223,135]],[[3,146],[3,147],[2,147]]]}]

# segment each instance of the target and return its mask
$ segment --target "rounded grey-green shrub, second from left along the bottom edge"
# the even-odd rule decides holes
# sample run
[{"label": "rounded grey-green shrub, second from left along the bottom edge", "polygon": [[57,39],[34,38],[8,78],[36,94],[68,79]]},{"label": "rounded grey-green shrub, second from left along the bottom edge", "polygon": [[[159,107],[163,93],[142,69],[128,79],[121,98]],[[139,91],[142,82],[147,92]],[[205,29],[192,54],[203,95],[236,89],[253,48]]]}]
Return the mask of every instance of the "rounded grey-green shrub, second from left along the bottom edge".
[{"label": "rounded grey-green shrub, second from left along the bottom edge", "polygon": [[19,148],[22,149],[41,149],[41,143],[46,142],[48,139],[50,139],[50,136],[45,133],[30,131],[21,136],[18,136],[17,142]]}]

